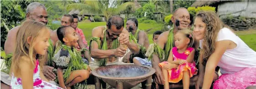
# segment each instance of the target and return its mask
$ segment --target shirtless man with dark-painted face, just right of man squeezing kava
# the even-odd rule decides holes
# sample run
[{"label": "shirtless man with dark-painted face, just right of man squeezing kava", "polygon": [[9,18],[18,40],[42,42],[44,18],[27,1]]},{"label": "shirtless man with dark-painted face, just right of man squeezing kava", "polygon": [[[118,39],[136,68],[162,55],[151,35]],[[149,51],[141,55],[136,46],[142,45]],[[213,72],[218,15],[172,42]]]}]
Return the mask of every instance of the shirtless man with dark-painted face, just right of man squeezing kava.
[{"label": "shirtless man with dark-painted face, just right of man squeezing kava", "polygon": [[129,18],[126,22],[126,29],[130,32],[130,36],[136,40],[136,43],[140,46],[140,52],[138,54],[134,54],[132,52],[127,52],[124,57],[124,62],[133,63],[134,57],[145,58],[146,50],[149,46],[149,41],[147,38],[147,34],[138,28],[138,20],[136,18]]}]

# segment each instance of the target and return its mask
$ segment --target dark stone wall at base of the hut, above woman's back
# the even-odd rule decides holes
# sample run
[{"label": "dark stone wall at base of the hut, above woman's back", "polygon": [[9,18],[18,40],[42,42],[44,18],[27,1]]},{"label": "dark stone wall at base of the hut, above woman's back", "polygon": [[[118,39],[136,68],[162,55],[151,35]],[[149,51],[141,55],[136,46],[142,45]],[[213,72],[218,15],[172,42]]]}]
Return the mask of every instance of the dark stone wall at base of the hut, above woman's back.
[{"label": "dark stone wall at base of the hut, above woman's back", "polygon": [[222,21],[234,30],[246,30],[256,28],[256,18],[226,17]]}]

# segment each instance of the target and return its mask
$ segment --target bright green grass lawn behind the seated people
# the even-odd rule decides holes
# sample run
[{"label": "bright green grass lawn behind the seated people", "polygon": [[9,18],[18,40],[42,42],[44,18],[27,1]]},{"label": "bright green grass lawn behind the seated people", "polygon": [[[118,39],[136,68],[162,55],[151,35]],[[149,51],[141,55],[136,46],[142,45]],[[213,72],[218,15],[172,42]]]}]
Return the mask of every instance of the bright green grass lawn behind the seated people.
[{"label": "bright green grass lawn behind the seated people", "polygon": [[[97,27],[97,26],[105,26],[105,22],[79,22],[78,23],[78,28],[82,29],[84,32],[84,35],[86,37],[86,40],[89,44],[89,41],[91,40],[92,37],[92,29]],[[156,24],[149,24],[149,23],[139,23],[139,28],[141,30],[149,30],[148,33],[148,38],[149,42],[153,43],[152,41],[152,36],[153,33],[157,30],[162,29],[163,24],[161,23],[156,23]],[[235,32],[251,49],[256,51],[256,29],[250,29],[246,31],[236,31]],[[5,52],[1,51],[1,56],[5,57]]]}]

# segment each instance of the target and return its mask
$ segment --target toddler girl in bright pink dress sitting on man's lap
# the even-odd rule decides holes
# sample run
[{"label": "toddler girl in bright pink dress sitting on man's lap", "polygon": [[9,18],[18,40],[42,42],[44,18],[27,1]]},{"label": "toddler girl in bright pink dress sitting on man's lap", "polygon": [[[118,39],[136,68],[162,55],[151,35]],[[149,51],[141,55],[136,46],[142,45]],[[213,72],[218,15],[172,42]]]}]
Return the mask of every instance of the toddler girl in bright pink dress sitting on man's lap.
[{"label": "toddler girl in bright pink dress sitting on man's lap", "polygon": [[183,80],[183,89],[189,88],[189,79],[197,74],[194,59],[194,39],[192,31],[179,30],[174,36],[175,47],[170,51],[167,61],[159,63],[164,76],[164,89],[170,83]]}]

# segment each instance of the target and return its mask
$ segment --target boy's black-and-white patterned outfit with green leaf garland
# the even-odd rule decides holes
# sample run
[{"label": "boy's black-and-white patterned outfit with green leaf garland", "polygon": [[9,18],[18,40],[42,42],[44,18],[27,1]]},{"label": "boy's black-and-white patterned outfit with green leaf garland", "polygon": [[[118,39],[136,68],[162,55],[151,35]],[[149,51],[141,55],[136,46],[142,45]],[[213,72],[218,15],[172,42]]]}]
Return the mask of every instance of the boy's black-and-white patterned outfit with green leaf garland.
[{"label": "boy's black-and-white patterned outfit with green leaf garland", "polygon": [[[64,83],[73,70],[88,70],[88,65],[82,61],[81,51],[77,51],[75,47],[66,46],[61,41],[56,42],[55,53],[52,57],[52,64],[55,68],[53,72],[57,75],[57,68],[62,68]],[[55,82],[58,84],[58,76],[56,77]],[[86,89],[86,83],[87,80],[74,84],[73,89]]]}]

